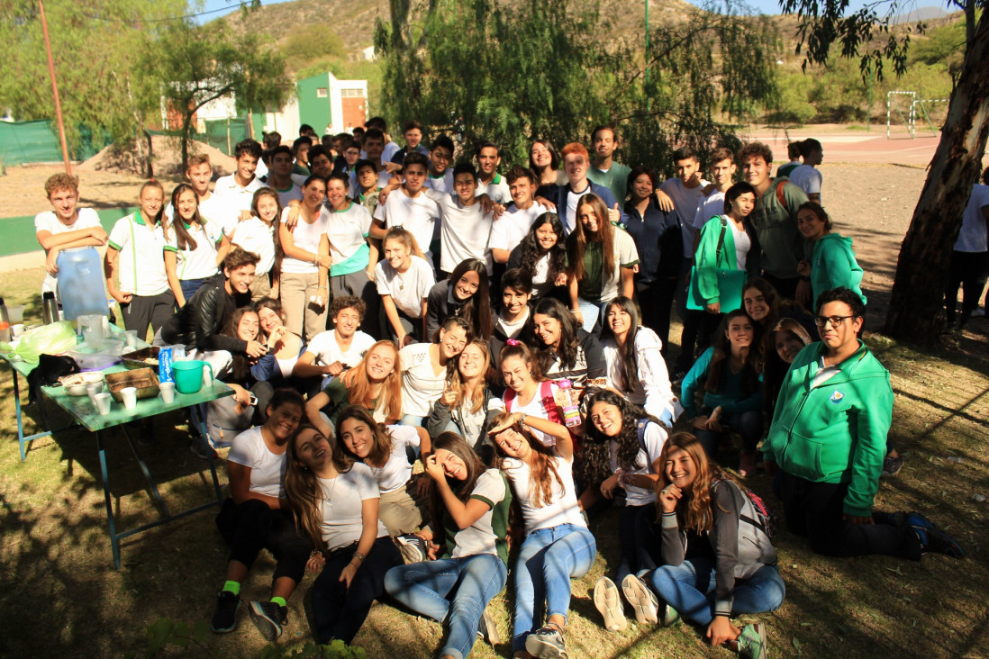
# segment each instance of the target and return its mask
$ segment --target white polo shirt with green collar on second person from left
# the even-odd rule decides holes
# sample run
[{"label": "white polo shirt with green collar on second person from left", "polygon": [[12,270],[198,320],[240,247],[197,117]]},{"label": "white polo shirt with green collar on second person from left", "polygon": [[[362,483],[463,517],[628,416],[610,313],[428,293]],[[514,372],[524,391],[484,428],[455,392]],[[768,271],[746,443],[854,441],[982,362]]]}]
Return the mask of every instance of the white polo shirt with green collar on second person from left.
[{"label": "white polo shirt with green collar on second person from left", "polygon": [[149,297],[168,290],[161,222],[149,229],[140,210],[135,210],[117,220],[108,242],[120,252],[117,279],[122,292]]}]

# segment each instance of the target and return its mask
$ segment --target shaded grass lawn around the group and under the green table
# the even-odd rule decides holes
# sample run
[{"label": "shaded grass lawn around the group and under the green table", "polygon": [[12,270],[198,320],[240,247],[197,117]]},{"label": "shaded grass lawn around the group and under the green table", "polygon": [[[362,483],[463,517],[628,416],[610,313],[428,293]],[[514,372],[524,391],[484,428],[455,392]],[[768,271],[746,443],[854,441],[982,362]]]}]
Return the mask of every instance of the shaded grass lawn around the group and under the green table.
[{"label": "shaded grass lawn around the group and under the green table", "polygon": [[[8,303],[28,302],[27,316],[41,317],[40,270],[4,276]],[[986,321],[974,321],[977,332]],[[984,334],[966,334],[960,346],[922,355],[884,337],[868,343],[892,371],[896,407],[893,440],[907,453],[900,474],[880,487],[880,510],[919,510],[954,535],[967,551],[955,560],[929,555],[919,562],[886,556],[829,559],[780,530],[776,547],[786,582],[786,602],[755,618],[767,623],[775,657],[984,657],[989,644],[985,449],[989,418],[989,357]],[[142,656],[145,629],[157,618],[190,624],[209,620],[223,584],[226,548],[214,525],[216,510],[174,522],[123,542],[124,565],[113,569],[95,439],[67,431],[38,441],[19,458],[9,369],[0,369],[0,656]],[[22,380],[23,383],[23,380]],[[37,409],[28,408],[33,432]],[[156,424],[156,443],[145,451],[166,502],[174,510],[206,501],[206,462],[188,451],[180,415]],[[126,443],[108,438],[108,460],[118,528],[155,518],[155,508]],[[948,459],[951,458],[951,459]],[[221,471],[225,481],[225,470]],[[753,487],[773,503],[767,479]],[[780,508],[776,504],[777,510]],[[712,649],[687,625],[623,633],[603,629],[590,599],[594,581],[618,557],[617,514],[592,529],[599,556],[590,574],[574,582],[567,632],[571,657],[730,657]],[[262,556],[243,585],[245,600],[266,597],[273,562]],[[301,647],[311,638],[308,577],[289,602],[290,621],[279,644]],[[510,589],[494,604],[502,636],[510,631]],[[174,656],[260,656],[264,642],[241,609],[240,626],[210,634],[204,648]],[[377,604],[355,645],[369,657],[429,657],[441,629],[388,604]],[[508,645],[478,644],[473,657],[510,656]]]}]

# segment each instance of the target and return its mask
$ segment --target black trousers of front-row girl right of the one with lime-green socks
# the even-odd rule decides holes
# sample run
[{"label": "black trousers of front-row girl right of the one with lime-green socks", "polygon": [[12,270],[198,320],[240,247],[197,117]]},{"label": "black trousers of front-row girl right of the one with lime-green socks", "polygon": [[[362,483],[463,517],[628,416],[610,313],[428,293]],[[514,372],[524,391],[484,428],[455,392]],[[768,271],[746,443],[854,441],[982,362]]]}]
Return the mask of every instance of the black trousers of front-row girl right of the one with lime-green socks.
[{"label": "black trousers of front-row girl right of the one with lime-green socks", "polygon": [[402,564],[402,554],[388,535],[375,540],[368,557],[347,588],[340,573],[347,566],[357,543],[337,549],[326,558],[313,584],[315,638],[320,644],[339,638],[350,644],[364,624],[371,605],[385,593],[385,573]]}]

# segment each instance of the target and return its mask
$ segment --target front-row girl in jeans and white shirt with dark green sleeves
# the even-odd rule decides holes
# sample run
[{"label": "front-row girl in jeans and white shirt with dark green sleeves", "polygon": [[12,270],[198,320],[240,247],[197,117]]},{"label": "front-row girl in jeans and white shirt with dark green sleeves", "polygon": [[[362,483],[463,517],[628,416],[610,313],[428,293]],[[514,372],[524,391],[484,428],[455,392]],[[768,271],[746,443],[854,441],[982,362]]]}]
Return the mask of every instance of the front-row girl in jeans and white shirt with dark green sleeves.
[{"label": "front-row girl in jeans and white shirt with dark green sleeves", "polygon": [[[463,659],[478,634],[497,642],[494,622],[486,608],[504,588],[508,560],[508,511],[511,491],[497,469],[485,469],[467,442],[454,433],[433,440],[433,454],[425,459],[432,479],[432,526],[442,529],[443,555],[439,560],[392,568],[385,589],[417,614],[449,627],[440,659]],[[439,546],[422,531],[434,556]]]}]

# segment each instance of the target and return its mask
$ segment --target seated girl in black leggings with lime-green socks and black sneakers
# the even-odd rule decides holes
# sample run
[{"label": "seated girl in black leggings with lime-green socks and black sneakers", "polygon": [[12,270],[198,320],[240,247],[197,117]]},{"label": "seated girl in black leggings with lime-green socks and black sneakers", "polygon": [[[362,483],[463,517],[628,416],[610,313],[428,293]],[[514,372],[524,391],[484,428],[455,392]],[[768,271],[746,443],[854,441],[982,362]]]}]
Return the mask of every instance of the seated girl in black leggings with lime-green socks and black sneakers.
[{"label": "seated girl in black leggings with lime-green socks and black sneakers", "polygon": [[261,549],[278,561],[270,602],[251,602],[250,614],[265,639],[282,633],[288,618],[286,600],[302,580],[312,545],[296,532],[286,509],[285,453],[303,415],[303,397],[292,389],[279,389],[268,406],[268,420],[233,438],[227,455],[230,496],[217,516],[217,527],[230,545],[226,582],[217,600],[213,630],[233,631],[240,608],[240,582],[247,576]]}]

